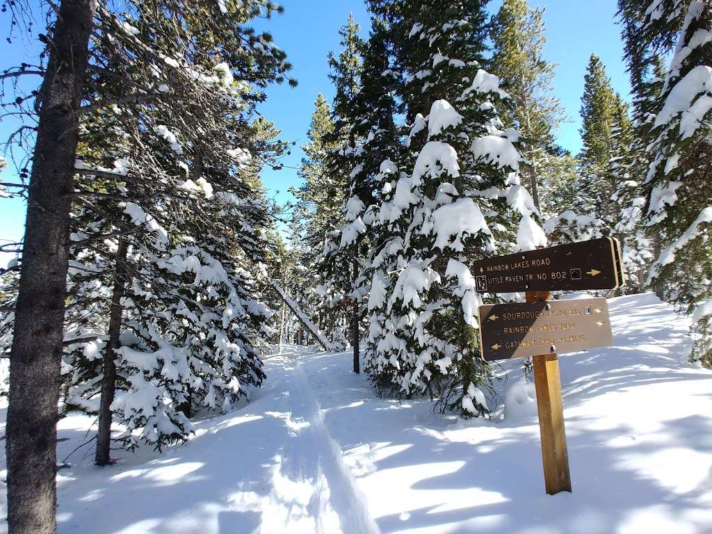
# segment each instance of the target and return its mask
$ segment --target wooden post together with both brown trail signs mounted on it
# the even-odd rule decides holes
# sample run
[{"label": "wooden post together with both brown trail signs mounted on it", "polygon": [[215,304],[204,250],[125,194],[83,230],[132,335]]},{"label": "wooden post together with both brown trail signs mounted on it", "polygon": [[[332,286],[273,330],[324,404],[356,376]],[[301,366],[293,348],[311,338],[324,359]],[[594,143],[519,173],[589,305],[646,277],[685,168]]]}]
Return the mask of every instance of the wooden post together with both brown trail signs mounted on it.
[{"label": "wooden post together with both brown trail signs mounted on it", "polygon": [[617,239],[601,238],[478,261],[479,293],[525,291],[526,303],[479,307],[484,360],[533,359],[546,493],[571,491],[557,353],[612,345],[604,298],[550,301],[551,290],[624,284]]}]

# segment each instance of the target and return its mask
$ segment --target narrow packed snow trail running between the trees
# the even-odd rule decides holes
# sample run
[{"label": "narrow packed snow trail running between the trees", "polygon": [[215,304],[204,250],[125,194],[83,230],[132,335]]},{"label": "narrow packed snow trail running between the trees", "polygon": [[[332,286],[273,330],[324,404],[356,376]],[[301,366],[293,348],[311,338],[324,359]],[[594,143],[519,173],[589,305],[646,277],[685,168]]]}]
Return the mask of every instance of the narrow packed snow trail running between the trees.
[{"label": "narrow packed snow trail running between the trees", "polygon": [[344,463],[342,452],[324,423],[320,407],[298,356],[285,365],[285,396],[290,403],[289,439],[273,466],[274,498],[263,514],[261,532],[379,534]]}]

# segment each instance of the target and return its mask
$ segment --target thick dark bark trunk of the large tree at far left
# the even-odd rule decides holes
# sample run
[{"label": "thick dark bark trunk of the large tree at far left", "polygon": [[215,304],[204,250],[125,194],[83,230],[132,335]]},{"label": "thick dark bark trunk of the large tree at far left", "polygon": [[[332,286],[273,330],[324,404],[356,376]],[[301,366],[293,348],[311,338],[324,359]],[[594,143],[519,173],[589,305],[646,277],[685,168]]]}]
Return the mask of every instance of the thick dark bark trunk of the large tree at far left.
[{"label": "thick dark bark trunk of the large tree at far left", "polygon": [[56,532],[56,425],[69,209],[95,0],[63,0],[38,96],[7,414],[11,534]]}]

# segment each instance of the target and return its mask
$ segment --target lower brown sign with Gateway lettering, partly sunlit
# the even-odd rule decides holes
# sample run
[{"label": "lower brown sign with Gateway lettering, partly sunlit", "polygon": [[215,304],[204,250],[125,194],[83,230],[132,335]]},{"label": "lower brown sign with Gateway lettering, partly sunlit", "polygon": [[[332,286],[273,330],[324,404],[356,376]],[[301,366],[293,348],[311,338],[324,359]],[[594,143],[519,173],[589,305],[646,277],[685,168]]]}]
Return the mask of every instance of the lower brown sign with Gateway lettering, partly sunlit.
[{"label": "lower brown sign with Gateway lettering, partly sunlit", "polygon": [[564,354],[613,342],[605,298],[486,305],[478,313],[487,361]]}]

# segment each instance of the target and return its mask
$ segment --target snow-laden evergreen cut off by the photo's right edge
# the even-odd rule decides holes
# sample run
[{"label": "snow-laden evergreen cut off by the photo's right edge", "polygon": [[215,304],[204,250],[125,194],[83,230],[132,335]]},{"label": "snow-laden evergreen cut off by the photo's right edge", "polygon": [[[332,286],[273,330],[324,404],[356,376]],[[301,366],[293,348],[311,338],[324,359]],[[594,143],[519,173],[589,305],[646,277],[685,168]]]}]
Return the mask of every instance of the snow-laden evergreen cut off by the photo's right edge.
[{"label": "snow-laden evergreen cut off by the photo's right edge", "polygon": [[672,51],[651,125],[646,221],[663,240],[649,283],[692,315],[692,359],[712,365],[712,4],[629,0],[642,48]]}]

